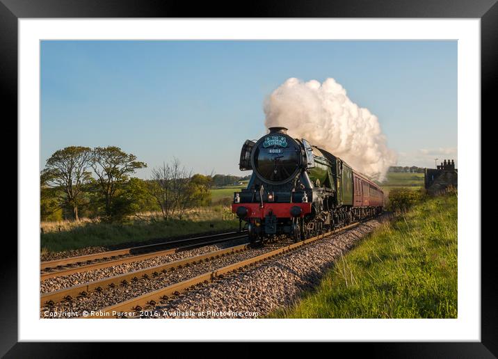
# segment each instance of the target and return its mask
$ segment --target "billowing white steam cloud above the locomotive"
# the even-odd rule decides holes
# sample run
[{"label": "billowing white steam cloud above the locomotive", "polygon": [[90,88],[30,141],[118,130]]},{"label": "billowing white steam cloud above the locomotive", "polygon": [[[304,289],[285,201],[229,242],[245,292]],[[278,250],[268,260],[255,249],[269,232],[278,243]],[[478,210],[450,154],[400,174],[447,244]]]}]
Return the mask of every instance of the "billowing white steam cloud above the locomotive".
[{"label": "billowing white steam cloud above the locomotive", "polygon": [[396,164],[377,116],[351,102],[335,79],[287,79],[266,98],[264,113],[267,128],[287,127],[290,136],[307,139],[371,178],[383,180]]}]

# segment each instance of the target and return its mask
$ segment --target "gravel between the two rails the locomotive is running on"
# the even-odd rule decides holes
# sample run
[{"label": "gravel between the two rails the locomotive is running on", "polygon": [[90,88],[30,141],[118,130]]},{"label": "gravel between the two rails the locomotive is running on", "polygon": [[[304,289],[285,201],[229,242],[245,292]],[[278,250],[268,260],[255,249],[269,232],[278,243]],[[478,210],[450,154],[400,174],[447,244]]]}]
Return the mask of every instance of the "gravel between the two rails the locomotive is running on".
[{"label": "gravel between the two rails the locomotive is running on", "polygon": [[[269,252],[281,246],[286,246],[291,244],[290,241],[280,241],[275,244],[269,244],[262,248],[250,248],[243,252],[234,253],[230,255],[225,255],[215,260],[209,260],[208,262],[201,262],[198,264],[191,264],[188,267],[183,267],[181,269],[175,269],[174,271],[168,271],[167,273],[161,273],[155,278],[143,279],[140,278],[136,282],[130,282],[126,287],[118,286],[112,289],[105,290],[104,292],[92,292],[85,298],[76,298],[74,301],[67,302],[63,301],[61,303],[56,303],[53,308],[43,307],[40,309],[40,317],[48,318],[51,317],[50,314],[46,312],[83,312],[83,310],[98,310],[106,306],[112,305],[114,303],[119,303],[122,301],[127,301],[136,296],[140,296],[147,292],[152,292],[156,289],[161,289],[167,287],[168,285],[181,282],[188,278],[193,278],[199,276],[207,271],[213,271],[215,269],[227,266],[242,260],[246,260],[250,257],[255,257],[263,253]],[[211,248],[211,250],[217,250],[220,248]],[[207,252],[207,248],[198,248],[198,250],[203,250],[203,253]],[[196,253],[200,254],[200,253]],[[144,261],[145,262],[145,261]],[[159,264],[159,263],[157,263]]]}]

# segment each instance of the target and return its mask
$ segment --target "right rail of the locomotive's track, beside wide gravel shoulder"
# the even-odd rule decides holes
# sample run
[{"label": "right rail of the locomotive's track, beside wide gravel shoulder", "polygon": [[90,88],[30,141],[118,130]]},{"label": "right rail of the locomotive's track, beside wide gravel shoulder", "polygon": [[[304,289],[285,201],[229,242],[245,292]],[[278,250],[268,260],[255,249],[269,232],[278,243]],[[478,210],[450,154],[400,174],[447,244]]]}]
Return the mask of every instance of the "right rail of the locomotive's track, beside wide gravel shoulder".
[{"label": "right rail of the locomotive's track, beside wide gravel shoulder", "polygon": [[330,232],[320,234],[316,237],[305,239],[298,243],[272,250],[271,252],[264,253],[262,255],[257,255],[256,257],[249,258],[248,260],[243,260],[241,262],[230,264],[229,266],[224,266],[223,268],[216,269],[214,271],[203,273],[200,276],[183,280],[182,282],[175,283],[174,285],[169,285],[168,287],[157,289],[154,292],[143,294],[136,298],[129,299],[128,301],[110,305],[109,307],[102,308],[101,310],[90,311],[88,312],[88,317],[83,317],[83,318],[133,317],[131,313],[143,310],[143,308],[147,308],[147,306],[155,307],[155,305],[159,303],[161,300],[163,300],[163,298],[179,294],[185,289],[198,285],[202,282],[209,282],[211,280],[214,280],[215,278],[220,278],[224,276],[226,273],[236,271],[237,269],[249,266],[250,264],[255,264],[257,262],[266,260],[270,257],[275,257],[276,255],[280,255],[282,253],[287,253],[291,250],[295,250],[296,248],[304,246],[305,244],[310,244],[319,239],[323,239],[324,237],[328,237],[331,234],[351,229],[357,226],[358,224],[360,224],[360,222],[356,222],[351,225],[346,225],[343,228],[338,228],[337,230],[332,230]]}]

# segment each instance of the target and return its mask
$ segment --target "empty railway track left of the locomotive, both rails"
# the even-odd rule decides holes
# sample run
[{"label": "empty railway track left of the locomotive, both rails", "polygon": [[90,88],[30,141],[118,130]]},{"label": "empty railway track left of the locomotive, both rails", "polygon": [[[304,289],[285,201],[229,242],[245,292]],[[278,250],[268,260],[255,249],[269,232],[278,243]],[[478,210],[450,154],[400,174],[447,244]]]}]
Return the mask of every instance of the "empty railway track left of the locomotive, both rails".
[{"label": "empty railway track left of the locomotive, both rails", "polygon": [[40,264],[40,280],[147,260],[152,257],[170,255],[183,250],[246,237],[247,234],[243,232],[227,232],[42,262]]}]

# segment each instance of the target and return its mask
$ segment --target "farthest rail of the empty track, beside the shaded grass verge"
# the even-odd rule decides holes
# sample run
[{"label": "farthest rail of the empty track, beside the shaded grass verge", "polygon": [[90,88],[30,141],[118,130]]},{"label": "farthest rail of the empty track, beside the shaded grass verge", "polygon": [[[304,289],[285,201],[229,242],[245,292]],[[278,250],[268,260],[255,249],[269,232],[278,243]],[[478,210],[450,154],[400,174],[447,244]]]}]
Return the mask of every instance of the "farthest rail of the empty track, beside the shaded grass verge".
[{"label": "farthest rail of the empty track, beside the shaded grass verge", "polygon": [[77,257],[66,257],[60,260],[49,260],[40,263],[40,271],[43,269],[56,268],[58,266],[67,266],[69,264],[79,264],[83,262],[88,262],[90,260],[100,260],[107,259],[112,257],[118,257],[122,255],[136,254],[140,252],[152,252],[154,248],[162,248],[164,246],[176,246],[177,244],[182,244],[185,242],[193,242],[198,241],[200,239],[209,239],[209,238],[217,238],[222,236],[231,236],[234,234],[239,234],[240,232],[225,232],[218,234],[209,234],[207,236],[201,237],[193,237],[193,238],[185,238],[185,239],[177,239],[175,241],[161,242],[156,244],[146,244],[144,246],[134,246],[130,248],[118,249],[118,250],[109,250],[106,252],[93,253],[90,255],[79,255]]}]

